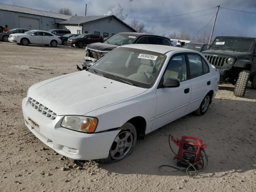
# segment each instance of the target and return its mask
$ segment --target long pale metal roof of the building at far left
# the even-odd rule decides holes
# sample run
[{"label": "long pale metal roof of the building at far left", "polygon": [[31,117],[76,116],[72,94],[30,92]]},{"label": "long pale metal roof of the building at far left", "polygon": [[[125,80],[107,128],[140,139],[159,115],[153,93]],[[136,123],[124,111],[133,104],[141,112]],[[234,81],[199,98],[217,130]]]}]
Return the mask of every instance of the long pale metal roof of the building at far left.
[{"label": "long pale metal roof of the building at far left", "polygon": [[50,12],[50,11],[43,11],[43,10],[38,10],[38,9],[32,9],[32,8],[14,6],[14,5],[8,5],[8,4],[2,4],[2,3],[0,3],[0,10],[20,12],[20,13],[39,15],[39,16],[45,16],[45,17],[52,17],[52,18],[58,18],[58,19],[64,19],[64,20],[71,18],[71,16],[69,16],[69,15],[64,15],[64,14],[60,14],[60,13],[54,13],[54,12]]}]

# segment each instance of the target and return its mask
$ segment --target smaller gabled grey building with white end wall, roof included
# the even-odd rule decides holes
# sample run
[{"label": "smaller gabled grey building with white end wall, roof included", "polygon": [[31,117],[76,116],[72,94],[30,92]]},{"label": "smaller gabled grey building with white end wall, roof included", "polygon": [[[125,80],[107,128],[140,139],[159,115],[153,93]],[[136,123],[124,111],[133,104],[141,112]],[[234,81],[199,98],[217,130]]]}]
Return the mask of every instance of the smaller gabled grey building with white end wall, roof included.
[{"label": "smaller gabled grey building with white end wall, roof included", "polygon": [[102,37],[112,36],[120,32],[136,32],[132,27],[114,15],[72,16],[59,23],[60,29],[69,29],[71,33],[92,33]]}]

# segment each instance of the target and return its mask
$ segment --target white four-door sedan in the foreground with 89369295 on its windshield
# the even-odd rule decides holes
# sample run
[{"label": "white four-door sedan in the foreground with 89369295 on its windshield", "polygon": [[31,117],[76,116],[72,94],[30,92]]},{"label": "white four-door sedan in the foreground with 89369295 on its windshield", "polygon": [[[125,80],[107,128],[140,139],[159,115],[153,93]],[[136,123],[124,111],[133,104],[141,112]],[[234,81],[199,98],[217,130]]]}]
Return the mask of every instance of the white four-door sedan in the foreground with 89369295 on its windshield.
[{"label": "white four-door sedan in the foreground with 89369295 on its windshield", "polygon": [[32,85],[22,110],[28,129],[59,154],[111,163],[130,155],[137,137],[191,112],[203,115],[219,78],[200,52],[130,44],[87,71]]}]

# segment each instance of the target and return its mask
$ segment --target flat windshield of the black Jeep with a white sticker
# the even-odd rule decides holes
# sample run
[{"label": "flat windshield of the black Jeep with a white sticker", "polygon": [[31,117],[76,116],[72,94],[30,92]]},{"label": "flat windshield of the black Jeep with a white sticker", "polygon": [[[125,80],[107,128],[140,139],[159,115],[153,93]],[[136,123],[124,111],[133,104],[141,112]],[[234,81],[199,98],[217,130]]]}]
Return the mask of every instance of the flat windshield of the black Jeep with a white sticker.
[{"label": "flat windshield of the black Jeep with a white sticker", "polygon": [[210,49],[251,52],[254,45],[255,40],[252,38],[216,37]]}]

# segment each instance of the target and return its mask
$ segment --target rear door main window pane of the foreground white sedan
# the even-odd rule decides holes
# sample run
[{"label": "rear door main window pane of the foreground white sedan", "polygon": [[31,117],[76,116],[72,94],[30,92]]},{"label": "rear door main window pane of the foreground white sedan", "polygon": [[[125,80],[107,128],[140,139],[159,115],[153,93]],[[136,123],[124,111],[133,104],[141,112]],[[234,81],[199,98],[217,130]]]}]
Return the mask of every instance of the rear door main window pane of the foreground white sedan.
[{"label": "rear door main window pane of the foreground white sedan", "polygon": [[195,78],[203,74],[202,59],[199,55],[188,54],[188,64],[190,70],[190,78]]}]

